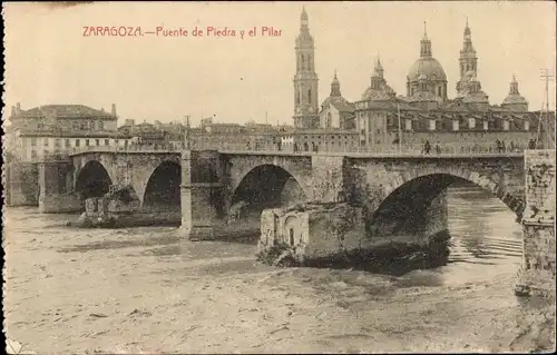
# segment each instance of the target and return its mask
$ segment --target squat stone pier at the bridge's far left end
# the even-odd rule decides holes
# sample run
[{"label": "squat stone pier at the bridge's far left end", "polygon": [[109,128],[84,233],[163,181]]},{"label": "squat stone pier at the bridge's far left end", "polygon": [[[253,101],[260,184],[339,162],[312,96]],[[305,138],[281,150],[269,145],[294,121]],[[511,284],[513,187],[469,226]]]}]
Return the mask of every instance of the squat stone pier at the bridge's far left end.
[{"label": "squat stone pier at the bridge's far left end", "polygon": [[84,203],[72,190],[72,165],[69,160],[39,162],[39,213],[81,211]]}]

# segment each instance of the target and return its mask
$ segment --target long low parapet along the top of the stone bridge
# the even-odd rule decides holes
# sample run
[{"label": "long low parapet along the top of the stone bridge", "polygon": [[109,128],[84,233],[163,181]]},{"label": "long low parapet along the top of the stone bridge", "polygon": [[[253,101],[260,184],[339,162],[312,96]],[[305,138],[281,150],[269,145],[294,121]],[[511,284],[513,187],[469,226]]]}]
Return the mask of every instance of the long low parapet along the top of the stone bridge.
[{"label": "long low parapet along the top of the stone bridge", "polygon": [[[295,149],[292,145],[281,146],[277,144],[233,144],[233,142],[203,142],[192,145],[192,149],[214,149],[225,152],[276,152],[283,155],[359,155],[359,156],[520,156],[524,148],[510,148],[497,146],[495,144],[440,144],[431,145],[426,149],[424,145],[375,145],[375,146],[332,146],[324,145],[317,148],[307,147],[305,149]],[[80,152],[179,152],[168,145],[129,145],[124,147],[116,146],[89,146],[72,148],[67,154],[75,155]]]}]

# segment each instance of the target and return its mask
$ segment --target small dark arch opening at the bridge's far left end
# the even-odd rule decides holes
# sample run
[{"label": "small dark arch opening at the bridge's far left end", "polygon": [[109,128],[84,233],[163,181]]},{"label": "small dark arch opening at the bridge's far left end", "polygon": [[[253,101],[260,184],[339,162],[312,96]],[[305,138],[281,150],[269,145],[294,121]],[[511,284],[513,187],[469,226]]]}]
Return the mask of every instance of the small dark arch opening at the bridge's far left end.
[{"label": "small dark arch opening at the bridge's far left end", "polygon": [[101,197],[108,193],[113,179],[108,169],[98,160],[88,160],[77,171],[75,179],[75,191],[80,194],[81,198]]}]

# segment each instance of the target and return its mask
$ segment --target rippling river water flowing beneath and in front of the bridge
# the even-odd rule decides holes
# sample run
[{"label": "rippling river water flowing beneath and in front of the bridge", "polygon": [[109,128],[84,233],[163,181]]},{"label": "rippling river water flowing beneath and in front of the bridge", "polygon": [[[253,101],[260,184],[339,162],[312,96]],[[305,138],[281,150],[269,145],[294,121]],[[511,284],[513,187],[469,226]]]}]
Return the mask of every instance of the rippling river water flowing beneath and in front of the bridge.
[{"label": "rippling river water flowing beneath and in front of the bridge", "polygon": [[280,269],[254,262],[252,240],[8,209],[8,337],[37,353],[508,351],[521,227],[480,189],[448,198],[449,264],[398,277]]}]

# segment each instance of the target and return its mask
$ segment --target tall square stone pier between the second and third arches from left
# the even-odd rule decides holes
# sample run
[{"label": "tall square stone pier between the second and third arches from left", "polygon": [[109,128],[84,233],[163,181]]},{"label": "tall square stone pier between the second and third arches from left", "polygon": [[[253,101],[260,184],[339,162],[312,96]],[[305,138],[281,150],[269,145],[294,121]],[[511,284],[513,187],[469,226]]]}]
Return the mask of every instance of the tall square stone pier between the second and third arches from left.
[{"label": "tall square stone pier between the second and third arches from left", "polygon": [[218,151],[182,154],[182,235],[189,240],[213,239],[222,225],[223,193]]}]

